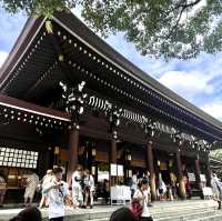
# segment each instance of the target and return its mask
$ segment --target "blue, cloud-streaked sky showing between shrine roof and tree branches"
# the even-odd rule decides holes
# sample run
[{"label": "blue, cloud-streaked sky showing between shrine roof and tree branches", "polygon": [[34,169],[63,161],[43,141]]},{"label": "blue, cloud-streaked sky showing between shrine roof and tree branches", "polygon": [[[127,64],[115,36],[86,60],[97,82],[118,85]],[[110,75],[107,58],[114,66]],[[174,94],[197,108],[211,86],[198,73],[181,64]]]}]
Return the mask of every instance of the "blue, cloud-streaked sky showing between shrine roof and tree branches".
[{"label": "blue, cloud-streaked sky showing between shrine roof and tree branches", "polygon": [[[77,13],[79,16],[79,13]],[[26,16],[11,16],[0,8],[0,67],[7,59],[26,22]],[[105,41],[148,74],[211,115],[222,120],[222,53],[202,53],[196,59],[165,62],[140,56],[124,33]]]}]

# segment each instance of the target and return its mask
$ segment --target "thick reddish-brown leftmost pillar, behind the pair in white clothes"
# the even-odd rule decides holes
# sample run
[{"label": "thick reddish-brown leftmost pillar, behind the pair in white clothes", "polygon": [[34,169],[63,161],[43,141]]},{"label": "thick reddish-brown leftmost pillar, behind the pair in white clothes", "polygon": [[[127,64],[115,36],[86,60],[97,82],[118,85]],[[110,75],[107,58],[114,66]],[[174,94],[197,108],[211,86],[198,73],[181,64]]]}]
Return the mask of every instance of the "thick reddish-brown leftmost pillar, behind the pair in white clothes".
[{"label": "thick reddish-brown leftmost pillar, behind the pair in white clothes", "polygon": [[71,179],[72,172],[78,164],[78,147],[79,147],[79,130],[70,129],[69,131],[69,162],[67,180]]}]

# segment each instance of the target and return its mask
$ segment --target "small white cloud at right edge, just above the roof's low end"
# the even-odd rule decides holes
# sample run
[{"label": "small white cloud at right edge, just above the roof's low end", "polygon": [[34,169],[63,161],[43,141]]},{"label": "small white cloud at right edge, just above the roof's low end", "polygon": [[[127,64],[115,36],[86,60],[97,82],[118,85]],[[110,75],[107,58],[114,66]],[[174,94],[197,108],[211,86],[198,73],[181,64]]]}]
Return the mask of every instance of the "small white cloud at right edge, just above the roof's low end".
[{"label": "small white cloud at right edge, just above the roof's low end", "polygon": [[222,101],[206,103],[201,109],[222,121]]}]

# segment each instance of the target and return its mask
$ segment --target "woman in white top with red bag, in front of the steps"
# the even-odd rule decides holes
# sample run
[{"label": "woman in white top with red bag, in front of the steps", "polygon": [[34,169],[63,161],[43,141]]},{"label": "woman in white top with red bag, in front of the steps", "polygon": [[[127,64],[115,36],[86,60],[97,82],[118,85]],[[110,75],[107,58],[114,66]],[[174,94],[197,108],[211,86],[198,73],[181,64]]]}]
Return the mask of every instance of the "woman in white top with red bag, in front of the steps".
[{"label": "woman in white top with red bag, in front of the steps", "polygon": [[153,221],[148,208],[149,204],[148,187],[149,187],[148,180],[142,179],[139,189],[135,191],[133,195],[133,199],[139,201],[140,204],[142,205],[141,221]]}]

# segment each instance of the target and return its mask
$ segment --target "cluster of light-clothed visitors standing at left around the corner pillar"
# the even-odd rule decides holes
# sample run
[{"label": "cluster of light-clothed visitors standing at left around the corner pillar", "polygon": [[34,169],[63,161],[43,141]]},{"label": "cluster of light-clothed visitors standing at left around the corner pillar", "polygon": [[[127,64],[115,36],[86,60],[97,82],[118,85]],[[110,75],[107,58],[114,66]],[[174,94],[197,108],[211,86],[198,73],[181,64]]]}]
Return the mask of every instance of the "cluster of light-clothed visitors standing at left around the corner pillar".
[{"label": "cluster of light-clothed visitors standing at left around the corner pillar", "polygon": [[[54,167],[48,170],[42,180],[36,173],[26,178],[24,204],[32,205],[36,190],[41,191],[39,208],[49,207],[49,220],[61,221],[64,218],[64,208],[90,208],[93,207],[94,179],[89,170],[81,165],[73,171],[69,183],[63,181],[64,169]],[[16,219],[17,220],[17,219]]]}]

